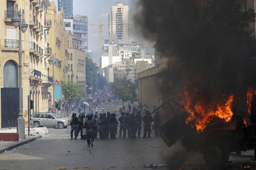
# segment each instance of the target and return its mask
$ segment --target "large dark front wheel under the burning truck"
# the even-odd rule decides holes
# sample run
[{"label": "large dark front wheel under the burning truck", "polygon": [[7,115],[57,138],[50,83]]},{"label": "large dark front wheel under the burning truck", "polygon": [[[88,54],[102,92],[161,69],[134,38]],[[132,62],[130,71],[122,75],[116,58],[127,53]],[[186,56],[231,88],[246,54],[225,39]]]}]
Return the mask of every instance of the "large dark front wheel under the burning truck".
[{"label": "large dark front wheel under the burning truck", "polygon": [[211,139],[204,145],[204,161],[211,168],[224,167],[228,162],[229,155],[230,149],[222,140]]}]

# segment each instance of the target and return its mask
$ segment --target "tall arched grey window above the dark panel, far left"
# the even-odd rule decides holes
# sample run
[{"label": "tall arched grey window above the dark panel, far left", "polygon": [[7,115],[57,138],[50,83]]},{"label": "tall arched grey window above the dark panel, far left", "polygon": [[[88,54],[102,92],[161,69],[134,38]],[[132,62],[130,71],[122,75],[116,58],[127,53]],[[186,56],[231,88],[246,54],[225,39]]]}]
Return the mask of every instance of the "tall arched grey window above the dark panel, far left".
[{"label": "tall arched grey window above the dark panel, far left", "polygon": [[18,87],[18,69],[14,61],[9,60],[4,64],[4,88]]}]

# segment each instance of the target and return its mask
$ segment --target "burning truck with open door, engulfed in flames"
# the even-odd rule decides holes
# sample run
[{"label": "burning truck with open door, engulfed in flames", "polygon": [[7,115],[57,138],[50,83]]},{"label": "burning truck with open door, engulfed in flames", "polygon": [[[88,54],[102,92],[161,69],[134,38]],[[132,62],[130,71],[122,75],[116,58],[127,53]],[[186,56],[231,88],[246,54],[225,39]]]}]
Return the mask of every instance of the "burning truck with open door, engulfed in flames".
[{"label": "burning truck with open door, engulfed in flames", "polygon": [[[206,164],[216,168],[225,166],[230,152],[254,150],[256,157],[256,90],[248,88],[245,104],[233,94],[209,104],[202,93],[186,87],[152,112],[161,115],[155,126],[168,147],[181,138],[185,148],[202,152]],[[240,109],[243,104],[247,113]]]}]

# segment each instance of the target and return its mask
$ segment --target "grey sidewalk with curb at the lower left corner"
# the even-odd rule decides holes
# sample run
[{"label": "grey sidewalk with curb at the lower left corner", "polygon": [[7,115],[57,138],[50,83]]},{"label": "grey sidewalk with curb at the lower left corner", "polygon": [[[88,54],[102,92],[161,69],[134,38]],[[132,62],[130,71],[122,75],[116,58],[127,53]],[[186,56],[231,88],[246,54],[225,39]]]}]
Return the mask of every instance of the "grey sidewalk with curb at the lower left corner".
[{"label": "grey sidewalk with curb at the lower left corner", "polygon": [[36,139],[39,139],[39,138],[42,138],[42,136],[33,136],[33,137],[26,136],[26,139],[19,139],[19,141],[14,141],[14,142],[0,141],[0,154],[4,153],[5,151],[9,151],[11,149],[17,148],[18,146],[35,141]]}]

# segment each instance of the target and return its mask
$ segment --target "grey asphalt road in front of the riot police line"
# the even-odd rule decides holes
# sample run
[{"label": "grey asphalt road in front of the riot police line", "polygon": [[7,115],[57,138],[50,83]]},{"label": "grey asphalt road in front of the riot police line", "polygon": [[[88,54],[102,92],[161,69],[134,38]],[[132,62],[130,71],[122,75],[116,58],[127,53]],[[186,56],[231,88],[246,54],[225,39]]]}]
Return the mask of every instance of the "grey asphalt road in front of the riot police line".
[{"label": "grey asphalt road in front of the riot police line", "polygon": [[[49,134],[41,139],[18,147],[14,153],[0,154],[0,169],[146,169],[144,165],[165,163],[169,166],[158,169],[208,169],[201,153],[187,152],[180,142],[168,148],[162,138],[154,137],[154,131],[145,139],[95,139],[94,147],[88,148],[80,136],[77,141],[69,140],[69,127],[48,129]],[[255,169],[253,158],[253,152],[242,152],[242,156],[231,153],[225,169]]]}]

